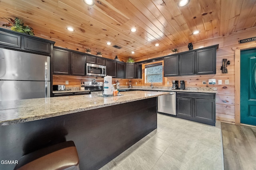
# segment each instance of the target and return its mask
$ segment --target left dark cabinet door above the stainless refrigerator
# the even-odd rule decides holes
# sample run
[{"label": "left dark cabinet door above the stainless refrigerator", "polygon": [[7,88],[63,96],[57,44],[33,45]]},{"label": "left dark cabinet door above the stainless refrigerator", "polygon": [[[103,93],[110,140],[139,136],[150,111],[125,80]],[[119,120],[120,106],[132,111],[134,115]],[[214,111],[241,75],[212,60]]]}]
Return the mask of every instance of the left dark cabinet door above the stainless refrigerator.
[{"label": "left dark cabinet door above the stainless refrigerator", "polygon": [[21,37],[0,31],[0,45],[21,48]]}]

